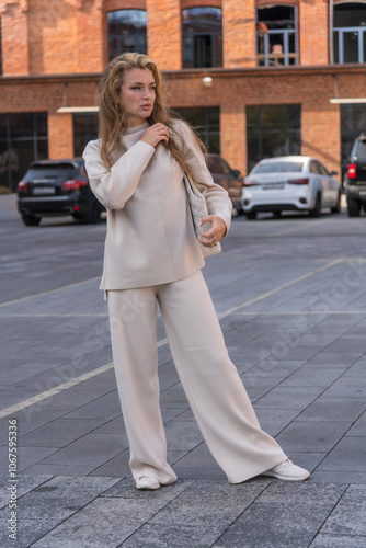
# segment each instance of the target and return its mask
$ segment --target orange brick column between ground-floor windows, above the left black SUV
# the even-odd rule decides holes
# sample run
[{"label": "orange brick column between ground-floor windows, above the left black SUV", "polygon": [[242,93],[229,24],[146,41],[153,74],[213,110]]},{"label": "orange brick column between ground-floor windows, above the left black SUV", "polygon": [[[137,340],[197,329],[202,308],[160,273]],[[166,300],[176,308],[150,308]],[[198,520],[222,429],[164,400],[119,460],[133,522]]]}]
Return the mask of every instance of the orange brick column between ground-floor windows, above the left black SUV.
[{"label": "orange brick column between ground-floor windows, above the left black SUV", "polygon": [[72,114],[48,114],[48,158],[73,157]]}]

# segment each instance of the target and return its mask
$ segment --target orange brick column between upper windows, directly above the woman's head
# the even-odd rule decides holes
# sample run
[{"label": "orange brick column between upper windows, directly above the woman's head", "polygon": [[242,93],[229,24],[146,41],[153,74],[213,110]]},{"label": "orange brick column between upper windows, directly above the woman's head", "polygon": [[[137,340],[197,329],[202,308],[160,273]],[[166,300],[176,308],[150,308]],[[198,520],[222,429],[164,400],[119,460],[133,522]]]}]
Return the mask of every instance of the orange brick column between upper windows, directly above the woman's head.
[{"label": "orange brick column between upper windows, directly above the woman's head", "polygon": [[161,70],[182,68],[182,32],[179,0],[147,0],[148,55]]}]

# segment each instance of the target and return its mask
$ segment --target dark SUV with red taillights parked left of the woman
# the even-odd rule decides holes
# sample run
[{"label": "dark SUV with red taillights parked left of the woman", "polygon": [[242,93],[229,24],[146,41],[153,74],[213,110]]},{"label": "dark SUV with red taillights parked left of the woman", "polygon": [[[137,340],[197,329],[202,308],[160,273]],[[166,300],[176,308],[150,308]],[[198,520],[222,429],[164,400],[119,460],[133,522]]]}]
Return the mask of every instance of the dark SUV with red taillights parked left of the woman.
[{"label": "dark SUV with red taillights parked left of the woman", "polygon": [[18,209],[27,226],[42,217],[71,215],[82,222],[98,222],[104,207],[93,195],[84,161],[42,160],[31,163],[18,184]]}]

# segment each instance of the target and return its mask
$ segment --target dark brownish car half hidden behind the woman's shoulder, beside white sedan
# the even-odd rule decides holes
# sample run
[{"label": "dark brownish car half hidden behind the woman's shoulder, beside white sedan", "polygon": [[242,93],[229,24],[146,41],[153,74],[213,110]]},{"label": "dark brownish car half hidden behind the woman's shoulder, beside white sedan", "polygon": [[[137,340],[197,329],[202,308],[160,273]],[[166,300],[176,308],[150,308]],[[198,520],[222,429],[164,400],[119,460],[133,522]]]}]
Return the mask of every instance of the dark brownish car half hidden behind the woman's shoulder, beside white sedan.
[{"label": "dark brownish car half hidden behind the woman's shoulder, beside white sedan", "polygon": [[232,207],[238,214],[241,214],[241,190],[244,179],[240,175],[240,171],[231,169],[219,155],[207,155],[206,163],[215,183],[224,186],[229,193]]}]

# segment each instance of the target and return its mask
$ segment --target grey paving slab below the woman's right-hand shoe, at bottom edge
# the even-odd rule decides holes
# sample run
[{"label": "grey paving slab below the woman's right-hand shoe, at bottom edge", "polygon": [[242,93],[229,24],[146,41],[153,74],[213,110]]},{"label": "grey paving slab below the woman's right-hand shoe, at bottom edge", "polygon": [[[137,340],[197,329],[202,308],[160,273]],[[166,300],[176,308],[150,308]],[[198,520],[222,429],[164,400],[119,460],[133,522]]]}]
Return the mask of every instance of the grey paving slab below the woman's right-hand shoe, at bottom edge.
[{"label": "grey paving slab below the woman's right-hand shoe, at bottom edge", "polygon": [[214,547],[308,547],[345,489],[273,482]]}]

